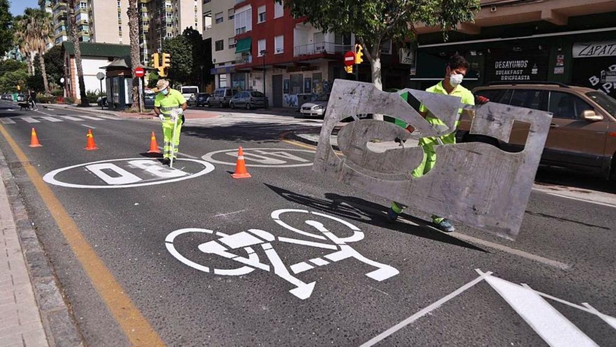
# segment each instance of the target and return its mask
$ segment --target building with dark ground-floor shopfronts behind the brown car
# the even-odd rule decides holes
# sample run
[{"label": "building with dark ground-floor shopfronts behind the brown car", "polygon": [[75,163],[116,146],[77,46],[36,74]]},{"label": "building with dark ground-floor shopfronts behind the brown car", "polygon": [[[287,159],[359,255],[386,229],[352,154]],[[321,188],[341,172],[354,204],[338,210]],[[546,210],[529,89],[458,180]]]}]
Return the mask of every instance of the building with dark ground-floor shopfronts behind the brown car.
[{"label": "building with dark ground-floor shopfronts behind the brown car", "polygon": [[482,0],[474,23],[458,25],[443,40],[440,28],[417,27],[416,66],[410,86],[442,78],[455,52],[471,63],[464,78],[487,83],[561,82],[602,90],[616,98],[616,1]]}]

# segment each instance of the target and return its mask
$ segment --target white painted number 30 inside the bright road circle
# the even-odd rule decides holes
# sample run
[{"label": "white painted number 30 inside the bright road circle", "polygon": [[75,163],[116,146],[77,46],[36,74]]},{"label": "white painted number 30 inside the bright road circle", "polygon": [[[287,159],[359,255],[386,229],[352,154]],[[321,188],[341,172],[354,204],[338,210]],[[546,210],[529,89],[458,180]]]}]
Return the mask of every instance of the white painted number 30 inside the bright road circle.
[{"label": "white painted number 30 inside the bright road circle", "polygon": [[[134,167],[138,167],[139,169],[142,169],[145,172],[148,172],[160,178],[176,178],[187,175],[187,173],[182,170],[162,167],[151,160],[129,161],[128,164]],[[115,165],[111,162],[86,165],[86,169],[89,172],[92,172],[92,174],[99,177],[101,180],[105,181],[105,183],[107,183],[108,185],[127,185],[131,183],[137,183],[143,180],[142,178],[131,174],[130,172],[122,169],[118,165]]]}]

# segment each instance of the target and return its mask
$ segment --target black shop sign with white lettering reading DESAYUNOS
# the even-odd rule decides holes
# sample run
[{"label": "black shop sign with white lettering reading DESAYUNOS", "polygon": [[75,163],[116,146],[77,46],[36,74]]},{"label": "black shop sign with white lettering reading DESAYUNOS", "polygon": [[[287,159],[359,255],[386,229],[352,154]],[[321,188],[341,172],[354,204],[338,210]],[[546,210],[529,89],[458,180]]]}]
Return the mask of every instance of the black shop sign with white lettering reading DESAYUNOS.
[{"label": "black shop sign with white lettering reading DESAYUNOS", "polygon": [[486,59],[487,82],[545,81],[548,75],[548,52],[492,52]]}]

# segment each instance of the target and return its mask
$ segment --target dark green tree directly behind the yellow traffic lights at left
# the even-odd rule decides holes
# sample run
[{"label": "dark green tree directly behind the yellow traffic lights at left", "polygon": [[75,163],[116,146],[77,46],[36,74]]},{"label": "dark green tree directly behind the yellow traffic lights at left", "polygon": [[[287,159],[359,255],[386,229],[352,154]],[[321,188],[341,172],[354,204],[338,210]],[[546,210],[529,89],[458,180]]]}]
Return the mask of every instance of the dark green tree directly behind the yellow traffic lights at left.
[{"label": "dark green tree directly behind the yellow traffic lights at left", "polygon": [[163,41],[163,52],[171,55],[171,68],[168,69],[168,79],[182,84],[190,83],[193,72],[193,50],[184,35],[168,38]]}]

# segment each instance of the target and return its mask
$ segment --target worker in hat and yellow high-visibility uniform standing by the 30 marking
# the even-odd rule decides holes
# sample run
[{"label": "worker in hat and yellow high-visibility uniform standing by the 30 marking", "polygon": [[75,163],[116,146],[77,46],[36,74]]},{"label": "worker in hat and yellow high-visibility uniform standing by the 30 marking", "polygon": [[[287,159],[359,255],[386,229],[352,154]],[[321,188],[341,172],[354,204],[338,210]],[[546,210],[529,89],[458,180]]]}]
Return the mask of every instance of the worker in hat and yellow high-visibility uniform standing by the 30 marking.
[{"label": "worker in hat and yellow high-visibility uniform standing by the 30 marking", "polygon": [[[177,90],[171,89],[167,80],[158,80],[156,83],[158,94],[154,99],[154,113],[163,123],[163,164],[169,165],[171,157],[177,158],[180,145],[180,131],[184,123],[182,114],[188,108],[186,99]],[[173,136],[173,127],[176,125],[176,136]],[[174,153],[171,153],[171,141],[174,144]]]}]

